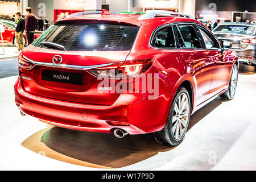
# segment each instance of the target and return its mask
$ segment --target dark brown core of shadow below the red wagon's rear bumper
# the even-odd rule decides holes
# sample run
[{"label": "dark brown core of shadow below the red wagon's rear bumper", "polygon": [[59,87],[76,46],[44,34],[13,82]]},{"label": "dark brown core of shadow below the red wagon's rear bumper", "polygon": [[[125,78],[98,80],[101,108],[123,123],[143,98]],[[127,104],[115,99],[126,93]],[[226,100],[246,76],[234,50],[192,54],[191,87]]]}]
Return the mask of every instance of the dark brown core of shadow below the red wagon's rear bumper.
[{"label": "dark brown core of shadow below the red wagon's rear bumper", "polygon": [[52,150],[88,163],[119,168],[171,150],[154,141],[150,134],[118,139],[113,134],[88,133],[54,127],[42,136]]}]

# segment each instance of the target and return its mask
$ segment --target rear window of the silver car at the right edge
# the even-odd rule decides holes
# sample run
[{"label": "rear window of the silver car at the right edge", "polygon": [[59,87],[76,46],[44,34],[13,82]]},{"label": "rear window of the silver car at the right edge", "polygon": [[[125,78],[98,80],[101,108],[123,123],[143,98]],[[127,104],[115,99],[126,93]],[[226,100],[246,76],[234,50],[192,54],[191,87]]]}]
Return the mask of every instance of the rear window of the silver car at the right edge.
[{"label": "rear window of the silver car at the right edge", "polygon": [[254,30],[255,30],[254,26],[230,24],[230,25],[220,25],[213,31],[251,35],[254,33]]}]

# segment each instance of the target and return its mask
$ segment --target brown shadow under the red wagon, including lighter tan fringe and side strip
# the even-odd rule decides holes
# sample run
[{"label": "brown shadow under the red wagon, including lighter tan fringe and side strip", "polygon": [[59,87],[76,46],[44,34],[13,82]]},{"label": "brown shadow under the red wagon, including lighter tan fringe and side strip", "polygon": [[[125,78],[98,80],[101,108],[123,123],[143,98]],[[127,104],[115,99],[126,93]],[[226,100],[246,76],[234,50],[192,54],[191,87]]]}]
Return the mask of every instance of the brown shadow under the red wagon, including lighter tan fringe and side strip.
[{"label": "brown shadow under the red wagon, including lighter tan fringe and side strip", "polygon": [[[221,100],[217,98],[193,114],[188,129],[220,104]],[[174,148],[156,143],[151,134],[118,139],[113,134],[68,130],[51,125],[24,140],[22,146],[49,158],[93,168],[126,167]]]}]

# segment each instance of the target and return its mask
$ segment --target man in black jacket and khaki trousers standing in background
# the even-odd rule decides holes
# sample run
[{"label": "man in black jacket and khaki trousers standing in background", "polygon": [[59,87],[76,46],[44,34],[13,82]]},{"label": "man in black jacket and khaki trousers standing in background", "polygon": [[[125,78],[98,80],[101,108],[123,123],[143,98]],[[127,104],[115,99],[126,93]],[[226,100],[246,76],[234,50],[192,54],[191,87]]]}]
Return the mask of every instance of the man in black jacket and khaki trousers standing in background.
[{"label": "man in black jacket and khaki trousers standing in background", "polygon": [[20,12],[15,13],[15,23],[16,23],[16,28],[15,28],[15,39],[16,42],[18,43],[18,51],[22,51],[24,48],[24,42],[23,42],[23,32],[25,30],[25,19],[22,18],[22,15]]}]

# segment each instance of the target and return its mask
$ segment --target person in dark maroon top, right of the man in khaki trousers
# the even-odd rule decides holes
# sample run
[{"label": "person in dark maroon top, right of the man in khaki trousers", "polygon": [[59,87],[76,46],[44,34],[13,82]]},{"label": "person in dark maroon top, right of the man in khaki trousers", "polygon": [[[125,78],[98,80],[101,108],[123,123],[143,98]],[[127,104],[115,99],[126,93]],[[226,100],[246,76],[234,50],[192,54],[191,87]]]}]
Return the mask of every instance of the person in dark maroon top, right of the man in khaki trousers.
[{"label": "person in dark maroon top, right of the man in khaki trousers", "polygon": [[26,23],[25,23],[25,31],[27,34],[27,40],[28,40],[28,45],[30,45],[34,41],[34,33],[36,29],[36,18],[35,15],[31,13],[32,9],[31,7],[26,8]]}]

